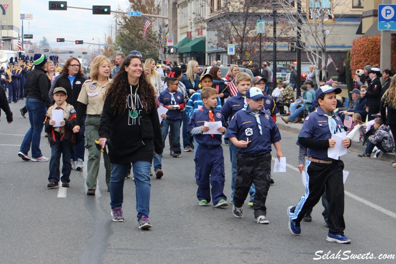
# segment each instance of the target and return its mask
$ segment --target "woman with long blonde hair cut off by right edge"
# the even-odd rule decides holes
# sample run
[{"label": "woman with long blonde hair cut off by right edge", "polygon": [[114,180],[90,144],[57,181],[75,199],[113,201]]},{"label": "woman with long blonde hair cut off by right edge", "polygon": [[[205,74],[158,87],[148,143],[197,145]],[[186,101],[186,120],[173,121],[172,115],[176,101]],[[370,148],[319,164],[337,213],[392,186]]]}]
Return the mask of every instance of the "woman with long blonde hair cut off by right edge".
[{"label": "woman with long blonde hair cut off by right edge", "polygon": [[[380,112],[383,123],[389,125],[389,128],[392,131],[393,139],[396,142],[396,75],[393,76],[389,88],[382,96]],[[392,166],[396,168],[395,160],[392,162]]]}]

